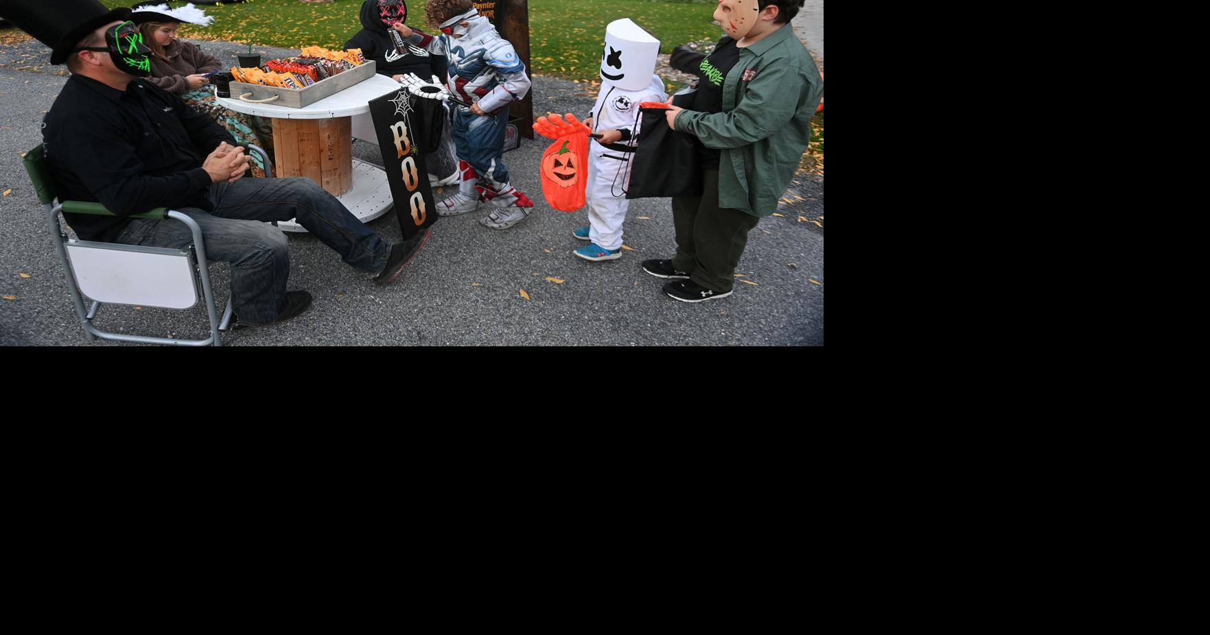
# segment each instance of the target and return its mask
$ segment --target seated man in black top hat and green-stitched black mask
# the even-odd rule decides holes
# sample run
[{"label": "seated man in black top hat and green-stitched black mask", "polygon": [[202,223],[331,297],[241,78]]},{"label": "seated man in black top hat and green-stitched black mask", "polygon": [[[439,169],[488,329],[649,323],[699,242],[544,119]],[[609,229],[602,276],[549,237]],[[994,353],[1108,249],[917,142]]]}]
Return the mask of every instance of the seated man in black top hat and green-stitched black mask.
[{"label": "seated man in black top hat and green-stitched black mask", "polygon": [[248,157],[226,131],[138,79],[150,60],[129,15],[96,0],[0,0],[0,17],[50,46],[51,63],[71,71],[42,121],[59,198],[97,201],[119,214],[64,214],[76,235],[182,247],[191,241],[183,224],[128,214],[167,207],[190,215],[211,259],[232,265],[231,301],[242,325],[282,322],[311,304],[309,293],[286,290],[288,243],[266,221],[296,218],[345,262],[380,272],[379,284],[394,282],[428,232],[392,247],[310,179],[242,179]]}]

